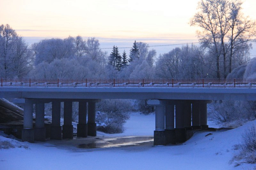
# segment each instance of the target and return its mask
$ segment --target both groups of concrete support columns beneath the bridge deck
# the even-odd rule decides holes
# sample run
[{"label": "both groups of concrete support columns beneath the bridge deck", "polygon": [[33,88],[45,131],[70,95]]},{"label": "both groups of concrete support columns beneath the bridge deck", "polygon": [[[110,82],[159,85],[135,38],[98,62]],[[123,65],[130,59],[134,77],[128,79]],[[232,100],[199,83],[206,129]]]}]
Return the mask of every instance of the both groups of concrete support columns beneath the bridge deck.
[{"label": "both groups of concrete support columns beneath the bridge deck", "polygon": [[[45,141],[45,103],[52,103],[52,123],[50,138],[61,140],[73,138],[72,102],[79,102],[77,136],[96,136],[95,104],[97,99],[15,99],[24,104],[24,127],[22,141],[33,143]],[[64,102],[64,124],[60,124],[61,102]],[[209,100],[149,100],[148,105],[156,108],[156,129],[154,145],[182,143],[191,137],[192,130],[207,128],[207,103]],[[36,108],[35,128],[33,128],[33,104]],[[88,117],[88,120],[87,120]]]}]

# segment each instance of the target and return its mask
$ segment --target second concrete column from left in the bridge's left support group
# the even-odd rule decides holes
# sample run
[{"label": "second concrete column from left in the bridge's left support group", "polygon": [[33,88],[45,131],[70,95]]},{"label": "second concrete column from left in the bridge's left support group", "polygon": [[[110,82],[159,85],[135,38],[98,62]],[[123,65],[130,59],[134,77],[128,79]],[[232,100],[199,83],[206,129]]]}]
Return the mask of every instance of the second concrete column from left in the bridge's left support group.
[{"label": "second concrete column from left in the bridge's left support group", "polygon": [[35,140],[45,141],[45,103],[36,103]]}]

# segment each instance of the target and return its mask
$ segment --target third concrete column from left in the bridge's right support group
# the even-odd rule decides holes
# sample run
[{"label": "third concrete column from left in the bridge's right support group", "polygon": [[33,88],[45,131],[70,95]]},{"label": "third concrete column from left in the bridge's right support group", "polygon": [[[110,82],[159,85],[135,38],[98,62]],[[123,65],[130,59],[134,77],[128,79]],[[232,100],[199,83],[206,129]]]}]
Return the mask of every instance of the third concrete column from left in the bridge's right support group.
[{"label": "third concrete column from left in the bridge's right support group", "polygon": [[184,126],[184,103],[184,101],[177,101],[177,104],[175,105],[175,137],[178,143],[186,141],[186,130]]}]

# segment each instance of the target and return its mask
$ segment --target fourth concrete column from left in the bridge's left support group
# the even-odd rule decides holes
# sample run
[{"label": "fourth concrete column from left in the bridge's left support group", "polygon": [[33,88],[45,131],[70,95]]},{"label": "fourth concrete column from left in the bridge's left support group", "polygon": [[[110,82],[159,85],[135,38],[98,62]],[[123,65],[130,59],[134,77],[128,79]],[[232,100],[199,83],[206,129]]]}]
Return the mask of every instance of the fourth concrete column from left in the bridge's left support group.
[{"label": "fourth concrete column from left in the bridge's left support group", "polygon": [[64,125],[62,126],[62,137],[73,138],[72,125],[72,101],[64,101]]}]

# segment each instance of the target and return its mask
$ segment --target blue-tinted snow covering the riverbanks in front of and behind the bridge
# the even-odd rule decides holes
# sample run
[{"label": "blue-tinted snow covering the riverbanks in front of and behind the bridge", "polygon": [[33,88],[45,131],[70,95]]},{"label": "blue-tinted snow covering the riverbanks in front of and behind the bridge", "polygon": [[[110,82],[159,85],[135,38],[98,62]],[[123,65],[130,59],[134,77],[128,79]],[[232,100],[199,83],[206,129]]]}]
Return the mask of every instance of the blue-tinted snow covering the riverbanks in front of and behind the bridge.
[{"label": "blue-tinted snow covering the riverbanks in front of and behind the bridge", "polygon": [[[197,132],[181,145],[141,145],[120,148],[84,149],[75,146],[57,147],[51,142],[15,143],[15,148],[0,149],[0,170],[21,169],[88,169],[88,170],[228,170],[253,169],[256,165],[234,167],[230,160],[239,150],[241,134],[256,121],[236,129],[218,132]],[[132,114],[125,132],[113,136],[153,136],[154,114]],[[206,134],[212,133],[206,136]],[[98,133],[99,136],[106,136]],[[11,140],[0,136],[0,141]],[[26,144],[29,149],[22,147]],[[21,147],[20,147],[21,146]],[[20,148],[19,148],[20,147]]]}]

